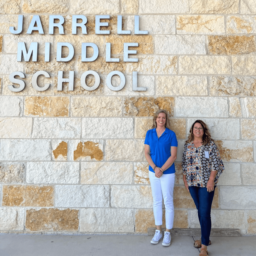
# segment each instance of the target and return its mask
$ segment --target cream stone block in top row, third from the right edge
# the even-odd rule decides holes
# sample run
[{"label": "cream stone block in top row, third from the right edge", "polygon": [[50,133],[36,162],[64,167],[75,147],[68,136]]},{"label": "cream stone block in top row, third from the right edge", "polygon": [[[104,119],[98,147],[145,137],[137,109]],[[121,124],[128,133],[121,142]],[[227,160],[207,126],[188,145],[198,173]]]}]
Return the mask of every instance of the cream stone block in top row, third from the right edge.
[{"label": "cream stone block in top row, third from the right edge", "polygon": [[188,1],[177,0],[175,2],[161,2],[157,0],[152,0],[150,2],[142,0],[140,1],[140,12],[141,13],[188,13],[189,3]]}]

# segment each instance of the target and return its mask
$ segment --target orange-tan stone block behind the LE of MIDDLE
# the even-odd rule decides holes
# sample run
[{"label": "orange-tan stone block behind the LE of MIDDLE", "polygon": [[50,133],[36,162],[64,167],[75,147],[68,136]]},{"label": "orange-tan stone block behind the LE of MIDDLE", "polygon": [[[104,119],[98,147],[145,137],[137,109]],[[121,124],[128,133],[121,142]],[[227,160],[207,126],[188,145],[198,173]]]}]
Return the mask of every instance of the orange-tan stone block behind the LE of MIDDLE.
[{"label": "orange-tan stone block behind the LE of MIDDLE", "polygon": [[106,36],[106,43],[111,43],[112,54],[123,54],[123,43],[138,43],[138,47],[129,47],[137,54],[153,54],[154,41],[152,35],[110,35]]}]

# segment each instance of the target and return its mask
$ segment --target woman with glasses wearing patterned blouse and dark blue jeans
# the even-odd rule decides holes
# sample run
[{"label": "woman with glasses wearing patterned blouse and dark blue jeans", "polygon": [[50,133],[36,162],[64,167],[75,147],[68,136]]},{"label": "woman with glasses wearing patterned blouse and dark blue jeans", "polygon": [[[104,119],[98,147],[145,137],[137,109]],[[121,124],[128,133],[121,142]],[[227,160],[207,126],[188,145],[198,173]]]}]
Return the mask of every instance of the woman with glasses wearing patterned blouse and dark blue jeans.
[{"label": "woman with glasses wearing patterned blouse and dark blue jeans", "polygon": [[202,247],[199,256],[207,256],[207,246],[211,244],[211,204],[224,166],[208,126],[202,120],[196,120],[189,130],[182,169],[183,181],[194,200],[201,226],[201,239],[195,241],[194,247]]}]

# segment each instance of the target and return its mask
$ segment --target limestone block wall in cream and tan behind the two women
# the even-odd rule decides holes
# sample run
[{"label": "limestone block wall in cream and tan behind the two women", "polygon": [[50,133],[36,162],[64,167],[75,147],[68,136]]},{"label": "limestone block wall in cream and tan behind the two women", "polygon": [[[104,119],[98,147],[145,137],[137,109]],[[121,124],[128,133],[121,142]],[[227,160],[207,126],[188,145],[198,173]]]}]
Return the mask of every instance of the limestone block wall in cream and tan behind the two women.
[{"label": "limestone block wall in cream and tan behind the two women", "polygon": [[[23,30],[13,34],[9,27],[17,29],[19,15]],[[32,26],[35,15],[40,22]],[[51,15],[64,18],[64,34],[57,27],[49,32]],[[87,18],[87,34],[80,28],[72,34],[75,15]],[[96,34],[98,15],[109,15],[100,28],[109,34]],[[117,33],[118,15],[131,34]],[[148,34],[135,33],[135,15]],[[252,0],[0,1],[0,232],[146,233],[154,227],[144,137],[161,108],[178,138],[174,227],[199,227],[181,155],[189,127],[202,119],[225,165],[212,227],[256,235],[255,34]],[[36,61],[17,61],[22,42],[27,50],[38,43]],[[57,61],[61,42],[74,48],[69,61]],[[82,43],[98,46],[95,61],[82,61]],[[106,61],[107,43],[119,61]],[[123,59],[124,43],[138,43],[129,48],[138,62]],[[68,55],[63,47],[61,57]],[[93,56],[90,47],[87,55]],[[95,90],[81,86],[88,70],[100,77]],[[115,70],[126,80],[118,91],[106,82]],[[37,71],[49,74],[37,79],[39,87],[50,84],[47,90],[32,86]],[[68,82],[59,90],[59,71],[67,79],[74,71],[73,90]],[[145,91],[133,90],[133,71]],[[13,72],[24,74],[15,76],[25,82],[20,92],[8,87],[19,88],[9,80]],[[94,86],[95,77],[87,76],[86,84]],[[113,76],[112,85],[119,84]]]}]

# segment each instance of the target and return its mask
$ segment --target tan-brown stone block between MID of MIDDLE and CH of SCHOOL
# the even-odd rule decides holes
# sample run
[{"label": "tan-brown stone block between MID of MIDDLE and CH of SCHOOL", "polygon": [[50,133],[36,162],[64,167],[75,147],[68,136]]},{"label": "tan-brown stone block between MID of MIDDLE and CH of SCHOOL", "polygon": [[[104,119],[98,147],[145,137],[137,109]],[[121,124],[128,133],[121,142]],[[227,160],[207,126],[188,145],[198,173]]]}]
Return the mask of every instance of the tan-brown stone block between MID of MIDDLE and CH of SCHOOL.
[{"label": "tan-brown stone block between MID of MIDDLE and CH of SCHOOL", "polygon": [[38,55],[37,62],[25,62],[22,65],[25,67],[26,74],[34,74],[37,71],[44,70],[51,76],[52,74],[57,75],[58,71],[64,71],[64,75],[68,75],[69,71],[76,70],[76,57],[68,62],[57,62],[54,55],[50,56],[50,62],[45,62],[44,55]]}]

